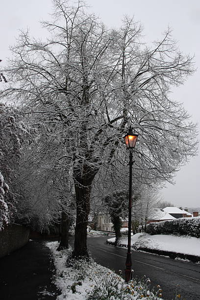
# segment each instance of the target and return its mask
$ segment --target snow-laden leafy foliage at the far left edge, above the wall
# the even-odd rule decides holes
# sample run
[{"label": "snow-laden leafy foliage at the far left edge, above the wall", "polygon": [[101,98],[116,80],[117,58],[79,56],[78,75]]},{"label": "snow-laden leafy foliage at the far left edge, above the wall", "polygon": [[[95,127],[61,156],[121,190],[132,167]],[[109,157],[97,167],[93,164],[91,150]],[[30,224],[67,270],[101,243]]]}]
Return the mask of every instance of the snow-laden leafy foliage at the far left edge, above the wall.
[{"label": "snow-laden leafy foliage at the far left edge, above the wall", "polygon": [[0,103],[0,228],[13,218],[20,197],[13,188],[13,181],[19,168],[21,147],[27,137],[29,128],[20,111]]}]

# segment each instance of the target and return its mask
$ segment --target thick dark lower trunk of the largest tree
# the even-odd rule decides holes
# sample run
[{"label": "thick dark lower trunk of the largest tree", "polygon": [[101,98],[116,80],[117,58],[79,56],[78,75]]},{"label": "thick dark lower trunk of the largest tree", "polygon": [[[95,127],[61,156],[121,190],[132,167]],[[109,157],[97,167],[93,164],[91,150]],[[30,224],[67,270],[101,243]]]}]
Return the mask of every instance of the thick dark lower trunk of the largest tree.
[{"label": "thick dark lower trunk of the largest tree", "polygon": [[87,249],[87,225],[90,212],[91,185],[75,184],[76,194],[76,225],[74,256],[89,256]]}]

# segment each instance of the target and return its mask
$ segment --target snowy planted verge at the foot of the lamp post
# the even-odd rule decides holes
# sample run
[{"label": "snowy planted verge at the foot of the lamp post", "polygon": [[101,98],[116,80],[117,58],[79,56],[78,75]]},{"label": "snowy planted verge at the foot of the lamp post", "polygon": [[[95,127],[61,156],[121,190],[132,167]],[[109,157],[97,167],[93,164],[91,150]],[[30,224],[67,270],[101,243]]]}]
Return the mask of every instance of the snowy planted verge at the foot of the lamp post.
[{"label": "snowy planted verge at the foot of the lamp post", "polygon": [[52,251],[56,274],[54,283],[60,289],[57,300],[161,300],[160,287],[149,289],[150,279],[133,279],[128,284],[111,270],[92,259],[74,260],[72,249],[56,251],[57,242],[47,243]]}]

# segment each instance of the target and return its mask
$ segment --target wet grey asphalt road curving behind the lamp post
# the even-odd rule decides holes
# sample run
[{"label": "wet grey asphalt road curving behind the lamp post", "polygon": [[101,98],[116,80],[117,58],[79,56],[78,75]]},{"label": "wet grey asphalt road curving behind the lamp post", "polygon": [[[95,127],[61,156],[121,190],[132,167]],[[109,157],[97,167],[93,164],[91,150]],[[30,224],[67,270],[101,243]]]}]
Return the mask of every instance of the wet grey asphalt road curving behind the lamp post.
[{"label": "wet grey asphalt road curving behind the lamp post", "polygon": [[[92,257],[101,265],[118,272],[125,269],[126,249],[106,245],[108,237],[88,237]],[[176,287],[185,300],[200,300],[200,265],[150,253],[132,251],[134,275],[159,284],[165,300],[174,299]]]}]

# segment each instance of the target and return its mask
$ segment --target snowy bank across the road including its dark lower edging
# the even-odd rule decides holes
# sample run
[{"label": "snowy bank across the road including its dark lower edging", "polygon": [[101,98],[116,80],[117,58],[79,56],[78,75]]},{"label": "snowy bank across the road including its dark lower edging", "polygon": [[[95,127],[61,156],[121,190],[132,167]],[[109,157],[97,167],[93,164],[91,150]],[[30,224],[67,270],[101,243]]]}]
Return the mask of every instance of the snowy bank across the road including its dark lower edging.
[{"label": "snowy bank across the road including its dark lower edging", "polygon": [[[115,238],[107,240],[110,245],[114,245],[114,242]],[[127,236],[120,238],[118,245],[127,247]],[[200,239],[195,237],[136,233],[131,236],[131,246],[134,250],[144,250],[194,262],[200,261]]]}]

